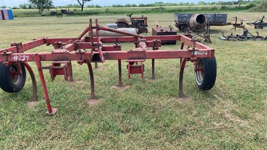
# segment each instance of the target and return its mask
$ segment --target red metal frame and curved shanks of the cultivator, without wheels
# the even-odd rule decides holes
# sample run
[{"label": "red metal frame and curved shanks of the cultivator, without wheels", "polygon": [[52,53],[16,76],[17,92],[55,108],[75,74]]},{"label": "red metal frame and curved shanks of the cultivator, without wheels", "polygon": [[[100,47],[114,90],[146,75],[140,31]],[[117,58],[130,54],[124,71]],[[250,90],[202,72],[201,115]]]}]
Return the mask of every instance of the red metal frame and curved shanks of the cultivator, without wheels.
[{"label": "red metal frame and curved shanks of the cultivator, without wheels", "polygon": [[[92,30],[96,29],[96,37],[93,37]],[[89,37],[83,37],[88,31]],[[125,37],[99,37],[98,30],[108,30],[130,36]],[[181,49],[160,50],[161,41],[181,41]],[[113,42],[114,45],[103,45],[102,43]],[[121,50],[122,42],[133,42],[135,47],[130,50]],[[25,51],[40,45],[53,45],[54,49],[50,52],[34,52],[26,53]],[[187,45],[187,49],[184,49]],[[150,50],[149,48],[152,48]],[[79,64],[86,63],[89,69],[91,81],[91,99],[95,98],[94,75],[91,63],[104,62],[105,60],[118,60],[118,86],[122,87],[121,77],[121,60],[128,61],[128,77],[130,74],[141,74],[144,77],[144,61],[146,59],[152,60],[152,79],[155,79],[154,65],[155,59],[183,59],[179,79],[179,95],[183,94],[183,70],[186,61],[195,62],[197,58],[214,58],[215,50],[200,42],[190,38],[190,35],[165,35],[165,36],[141,36],[121,30],[107,28],[98,25],[93,26],[90,19],[89,25],[82,31],[77,38],[40,38],[35,39],[25,44],[12,44],[11,47],[0,50],[0,61],[4,64],[10,65],[12,63],[21,62],[29,70],[33,81],[33,100],[36,100],[36,81],[33,71],[26,63],[27,61],[34,61],[36,63],[39,77],[42,84],[42,89],[46,99],[48,113],[53,114],[57,109],[53,109],[50,105],[49,95],[43,75],[42,68],[50,69],[52,80],[56,75],[64,75],[65,79],[72,80],[72,66],[70,60],[76,60]],[[52,65],[42,66],[41,61],[51,61]],[[136,62],[141,62],[137,64]],[[135,63],[135,64],[134,64]],[[63,64],[63,66],[61,66]]]}]

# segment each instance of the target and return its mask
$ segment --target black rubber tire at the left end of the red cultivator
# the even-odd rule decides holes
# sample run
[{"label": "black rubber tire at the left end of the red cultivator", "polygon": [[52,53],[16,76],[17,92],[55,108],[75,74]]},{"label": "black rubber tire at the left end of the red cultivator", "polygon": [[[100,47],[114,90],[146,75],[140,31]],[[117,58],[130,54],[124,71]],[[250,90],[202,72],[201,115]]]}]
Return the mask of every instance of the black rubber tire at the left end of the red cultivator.
[{"label": "black rubber tire at the left end of the red cultivator", "polygon": [[22,75],[20,75],[18,83],[14,84],[11,80],[9,70],[10,70],[10,67],[17,68],[17,65],[13,64],[10,66],[5,66],[3,65],[2,62],[0,62],[0,88],[3,91],[14,93],[14,92],[18,92],[23,89],[25,81],[26,81],[26,70],[25,70],[25,66],[22,63],[20,63],[20,65],[22,69]]}]

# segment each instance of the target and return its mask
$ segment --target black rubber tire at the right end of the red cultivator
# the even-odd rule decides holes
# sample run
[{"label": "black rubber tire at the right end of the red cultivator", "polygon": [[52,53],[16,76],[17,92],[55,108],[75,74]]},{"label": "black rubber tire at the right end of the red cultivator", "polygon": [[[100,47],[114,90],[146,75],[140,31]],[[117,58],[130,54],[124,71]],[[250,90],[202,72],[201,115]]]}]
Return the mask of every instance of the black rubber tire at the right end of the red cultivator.
[{"label": "black rubber tire at the right end of the red cultivator", "polygon": [[216,59],[200,58],[196,63],[198,65],[198,68],[201,68],[201,66],[203,66],[204,69],[203,74],[201,73],[201,71],[195,72],[195,79],[198,88],[201,90],[211,90],[215,84],[217,76]]}]

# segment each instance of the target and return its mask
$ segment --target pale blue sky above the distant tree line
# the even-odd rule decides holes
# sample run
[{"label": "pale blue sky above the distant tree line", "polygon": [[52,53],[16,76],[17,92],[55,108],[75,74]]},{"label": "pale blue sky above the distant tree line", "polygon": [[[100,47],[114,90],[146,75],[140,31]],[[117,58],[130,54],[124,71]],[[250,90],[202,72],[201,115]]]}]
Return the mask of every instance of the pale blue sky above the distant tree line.
[{"label": "pale blue sky above the distant tree line", "polygon": [[[68,4],[79,4],[77,0],[52,0],[54,6],[65,6]],[[84,6],[86,5],[100,5],[100,6],[111,6],[112,4],[136,4],[137,6],[140,3],[143,4],[149,4],[149,3],[154,3],[156,1],[162,1],[162,2],[169,2],[169,3],[180,3],[180,2],[190,2],[190,3],[195,3],[197,4],[199,1],[204,1],[204,2],[217,2],[217,1],[233,1],[233,0],[91,0],[89,2],[86,2]],[[29,3],[28,0],[0,0],[0,6],[7,6],[7,7],[13,7],[17,6],[19,4],[23,3]]]}]

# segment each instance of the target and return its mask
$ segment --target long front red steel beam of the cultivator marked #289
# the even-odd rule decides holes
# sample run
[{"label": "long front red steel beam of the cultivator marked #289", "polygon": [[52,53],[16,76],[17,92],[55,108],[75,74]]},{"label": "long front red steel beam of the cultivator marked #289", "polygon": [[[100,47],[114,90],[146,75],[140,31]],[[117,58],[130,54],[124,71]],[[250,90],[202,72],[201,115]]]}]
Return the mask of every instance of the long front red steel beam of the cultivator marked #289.
[{"label": "long front red steel beam of the cultivator marked #289", "polygon": [[[116,48],[116,47],[114,47]],[[7,61],[34,61],[36,53],[14,53],[5,55]],[[37,53],[42,61],[60,60],[90,60],[91,53],[77,54],[75,52]],[[147,50],[147,51],[103,51],[106,60],[133,60],[133,59],[176,59],[176,58],[213,58],[214,49],[199,49],[198,51],[184,50]],[[6,61],[0,55],[0,61]],[[81,57],[80,57],[81,56]]]}]

